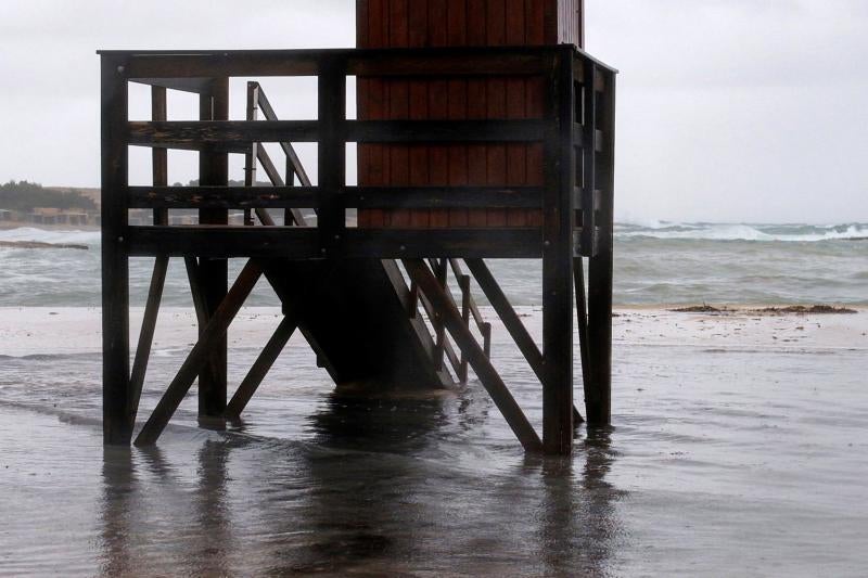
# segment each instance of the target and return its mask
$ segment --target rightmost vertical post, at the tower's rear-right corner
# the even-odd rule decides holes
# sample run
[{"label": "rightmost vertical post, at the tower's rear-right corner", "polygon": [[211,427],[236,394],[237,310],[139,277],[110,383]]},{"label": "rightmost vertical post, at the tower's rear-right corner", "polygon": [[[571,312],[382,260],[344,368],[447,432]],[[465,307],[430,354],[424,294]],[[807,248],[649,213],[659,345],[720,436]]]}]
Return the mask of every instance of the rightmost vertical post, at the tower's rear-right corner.
[{"label": "rightmost vertical post, at the tower's rear-right corner", "polygon": [[612,420],[612,264],[614,215],[615,77],[607,74],[605,90],[598,97],[599,123],[605,137],[604,151],[597,155],[596,188],[601,203],[597,219],[597,253],[588,269],[588,342],[591,375],[585,388],[589,426],[605,426]]}]

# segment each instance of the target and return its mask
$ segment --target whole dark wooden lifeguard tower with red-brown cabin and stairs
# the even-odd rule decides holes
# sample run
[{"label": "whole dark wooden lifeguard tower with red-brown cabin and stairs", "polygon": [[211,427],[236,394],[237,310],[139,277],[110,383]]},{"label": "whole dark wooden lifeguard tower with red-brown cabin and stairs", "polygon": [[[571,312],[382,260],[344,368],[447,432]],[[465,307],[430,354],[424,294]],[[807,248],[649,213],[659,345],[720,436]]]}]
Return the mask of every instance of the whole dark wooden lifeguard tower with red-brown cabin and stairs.
[{"label": "whole dark wooden lifeguard tower with red-brown cabin and stairs", "polygon": [[[156,441],[196,378],[200,415],[238,416],[298,329],[339,385],[456,387],[471,367],[527,451],[566,454],[582,420],[574,311],[587,423],[609,424],[616,72],[582,50],[580,0],[357,7],[357,49],[100,52],[106,444],[132,439],[173,257],[200,337],[137,445]],[[279,119],[255,81],[245,118],[229,118],[230,78],[280,76],[317,78],[316,120]],[[152,87],[151,121],[129,120],[129,82]],[[167,121],[167,90],[197,94],[200,120]],[[316,183],[298,142],[318,145]],[[280,165],[261,143],[280,143]],[[130,145],[152,149],[152,185],[129,185]],[[197,187],[168,185],[168,149],[199,151]],[[230,154],[245,156],[244,187],[228,184]],[[259,170],[271,187],[255,187]],[[142,208],[153,224],[130,226]],[[199,223],[170,226],[175,209],[197,209]],[[144,256],[155,265],[130,368],[128,262]],[[228,258],[247,259],[231,286]],[[486,266],[496,258],[542,260],[541,348]],[[227,402],[226,333],[260,278],[283,319]],[[474,281],[540,381],[541,440],[489,361]]]}]

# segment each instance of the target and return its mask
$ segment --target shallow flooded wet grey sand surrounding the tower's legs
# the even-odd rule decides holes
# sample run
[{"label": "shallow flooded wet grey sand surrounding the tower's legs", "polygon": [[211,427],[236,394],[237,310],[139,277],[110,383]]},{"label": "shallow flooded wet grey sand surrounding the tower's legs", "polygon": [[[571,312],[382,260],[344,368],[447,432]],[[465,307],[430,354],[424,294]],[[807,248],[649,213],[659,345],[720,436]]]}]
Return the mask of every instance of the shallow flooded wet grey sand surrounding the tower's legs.
[{"label": "shallow flooded wet grey sand surrounding the tower's legs", "polygon": [[[99,311],[5,308],[0,573],[861,576],[866,318],[620,310],[615,426],[544,460],[477,383],[337,397],[297,336],[243,424],[197,427],[190,396],[157,449],[104,449]],[[277,322],[243,312],[232,383]],[[195,331],[161,318],[143,412]],[[502,327],[494,356],[539,428]]]}]

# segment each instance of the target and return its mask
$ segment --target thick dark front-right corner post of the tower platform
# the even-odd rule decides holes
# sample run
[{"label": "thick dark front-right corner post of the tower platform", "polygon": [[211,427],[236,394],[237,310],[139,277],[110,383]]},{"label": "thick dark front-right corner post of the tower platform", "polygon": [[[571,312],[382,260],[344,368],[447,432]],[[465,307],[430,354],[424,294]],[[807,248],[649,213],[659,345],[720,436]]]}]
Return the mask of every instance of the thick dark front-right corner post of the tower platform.
[{"label": "thick dark front-right corner post of the tower platform", "polygon": [[573,450],[573,48],[559,48],[554,62],[542,208],[542,449],[566,455]]}]

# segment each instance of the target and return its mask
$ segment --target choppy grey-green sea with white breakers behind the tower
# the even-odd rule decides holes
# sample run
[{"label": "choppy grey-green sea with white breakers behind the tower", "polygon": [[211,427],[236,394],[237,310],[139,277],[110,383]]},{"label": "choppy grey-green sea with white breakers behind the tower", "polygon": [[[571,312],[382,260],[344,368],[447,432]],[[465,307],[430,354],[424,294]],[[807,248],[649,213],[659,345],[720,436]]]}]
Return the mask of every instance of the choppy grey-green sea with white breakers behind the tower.
[{"label": "choppy grey-green sea with white breakers behind the tower", "polygon": [[[89,251],[0,247],[0,306],[100,305],[100,235],[93,231],[0,231],[0,241],[78,243]],[[233,272],[241,261],[233,262]],[[538,260],[490,261],[518,305],[538,305]],[[150,259],[132,259],[131,300],[143,303]],[[258,287],[251,305],[277,305]],[[480,300],[484,301],[482,296]],[[868,223],[620,223],[615,228],[616,305],[807,304],[868,305]],[[190,304],[178,259],[164,303]]]}]

